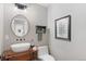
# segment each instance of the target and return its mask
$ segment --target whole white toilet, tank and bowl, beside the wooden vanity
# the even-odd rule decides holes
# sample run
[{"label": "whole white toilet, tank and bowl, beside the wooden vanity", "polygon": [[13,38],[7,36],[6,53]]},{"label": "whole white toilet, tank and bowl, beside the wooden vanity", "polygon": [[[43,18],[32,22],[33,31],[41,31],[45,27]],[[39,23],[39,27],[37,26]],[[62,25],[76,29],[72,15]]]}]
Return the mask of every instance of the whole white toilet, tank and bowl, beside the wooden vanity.
[{"label": "whole white toilet, tank and bowl, beside the wooden vanity", "polygon": [[54,57],[49,54],[48,47],[38,47],[38,59],[41,61],[54,61]]}]

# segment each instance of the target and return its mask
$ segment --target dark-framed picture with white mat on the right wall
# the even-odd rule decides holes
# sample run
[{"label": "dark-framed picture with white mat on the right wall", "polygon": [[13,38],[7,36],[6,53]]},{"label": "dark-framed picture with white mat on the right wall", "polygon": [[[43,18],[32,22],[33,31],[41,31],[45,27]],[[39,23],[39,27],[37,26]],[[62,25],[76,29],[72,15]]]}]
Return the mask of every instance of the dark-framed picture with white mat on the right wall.
[{"label": "dark-framed picture with white mat on the right wall", "polygon": [[56,38],[71,41],[71,15],[54,21]]}]

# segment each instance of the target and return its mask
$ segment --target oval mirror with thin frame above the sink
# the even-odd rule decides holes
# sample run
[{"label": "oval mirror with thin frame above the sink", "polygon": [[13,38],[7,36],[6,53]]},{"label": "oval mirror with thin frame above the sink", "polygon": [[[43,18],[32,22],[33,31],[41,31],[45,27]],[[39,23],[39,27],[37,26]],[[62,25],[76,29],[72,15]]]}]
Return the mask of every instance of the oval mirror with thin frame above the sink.
[{"label": "oval mirror with thin frame above the sink", "polygon": [[17,37],[23,37],[28,33],[29,24],[25,16],[16,15],[12,18],[11,28]]}]

